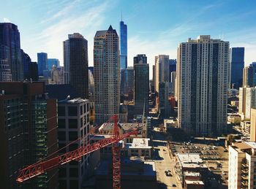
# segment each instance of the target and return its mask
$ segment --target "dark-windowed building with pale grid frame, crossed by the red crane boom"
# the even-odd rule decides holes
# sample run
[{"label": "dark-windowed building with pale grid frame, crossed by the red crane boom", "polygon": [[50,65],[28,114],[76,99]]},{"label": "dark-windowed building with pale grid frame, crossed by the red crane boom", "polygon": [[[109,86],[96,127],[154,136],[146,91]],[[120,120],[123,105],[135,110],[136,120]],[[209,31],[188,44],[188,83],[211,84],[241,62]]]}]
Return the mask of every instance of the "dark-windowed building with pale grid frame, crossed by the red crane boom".
[{"label": "dark-windowed building with pale grid frame, crossed by the red crane boom", "polygon": [[[58,103],[59,149],[69,142],[76,142],[59,151],[59,155],[87,145],[89,142],[89,100],[64,99]],[[89,155],[81,161],[67,163],[59,169],[59,188],[80,189],[88,174]],[[88,175],[87,175],[88,176]]]}]

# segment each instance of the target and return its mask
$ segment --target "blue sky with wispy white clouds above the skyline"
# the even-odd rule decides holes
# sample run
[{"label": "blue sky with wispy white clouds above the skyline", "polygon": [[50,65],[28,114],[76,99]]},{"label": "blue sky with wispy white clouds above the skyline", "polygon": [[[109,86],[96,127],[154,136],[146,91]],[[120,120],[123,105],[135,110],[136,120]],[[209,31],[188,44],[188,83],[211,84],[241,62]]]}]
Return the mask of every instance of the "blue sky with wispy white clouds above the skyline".
[{"label": "blue sky with wispy white clouds above the skyline", "polygon": [[[146,54],[176,58],[178,43],[198,35],[245,47],[245,63],[256,61],[255,0],[0,0],[0,22],[11,22],[20,31],[20,47],[37,61],[37,53],[59,58],[63,65],[63,41],[80,33],[89,45],[97,30],[110,25],[118,31],[121,12],[128,30],[128,66],[133,57]],[[150,67],[151,75],[151,67]]]}]

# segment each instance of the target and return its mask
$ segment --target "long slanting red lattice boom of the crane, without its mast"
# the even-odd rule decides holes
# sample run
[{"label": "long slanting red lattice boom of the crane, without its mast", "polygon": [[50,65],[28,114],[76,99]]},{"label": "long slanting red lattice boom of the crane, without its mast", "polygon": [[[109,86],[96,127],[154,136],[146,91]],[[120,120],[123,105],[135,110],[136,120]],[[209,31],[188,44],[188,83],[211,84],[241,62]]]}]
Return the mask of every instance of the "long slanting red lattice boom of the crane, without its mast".
[{"label": "long slanting red lattice boom of the crane, without its mast", "polygon": [[45,173],[45,171],[48,171],[49,169],[53,169],[57,166],[69,163],[70,161],[78,160],[79,158],[83,157],[83,155],[92,153],[96,150],[99,150],[102,147],[108,146],[109,144],[117,143],[122,139],[133,134],[138,134],[138,131],[135,129],[127,134],[111,136],[110,138],[102,139],[98,142],[94,142],[93,144],[81,146],[77,150],[64,153],[63,155],[59,155],[55,158],[50,158],[49,160],[46,161],[39,161],[38,163],[34,163],[31,166],[27,166],[26,168],[21,169],[19,171],[18,178],[16,181],[23,182],[25,180],[29,180],[32,177],[36,177],[39,174]]}]

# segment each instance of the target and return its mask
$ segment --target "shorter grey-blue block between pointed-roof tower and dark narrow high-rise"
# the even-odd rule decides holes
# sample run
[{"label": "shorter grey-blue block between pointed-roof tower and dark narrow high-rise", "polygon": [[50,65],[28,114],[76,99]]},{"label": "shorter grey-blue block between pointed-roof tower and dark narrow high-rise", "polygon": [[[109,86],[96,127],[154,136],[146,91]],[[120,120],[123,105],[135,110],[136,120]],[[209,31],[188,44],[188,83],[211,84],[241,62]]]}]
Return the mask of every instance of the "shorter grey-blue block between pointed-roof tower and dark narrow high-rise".
[{"label": "shorter grey-blue block between pointed-roof tower and dark narrow high-rise", "polygon": [[121,94],[128,96],[130,90],[134,91],[134,69],[128,67],[121,69]]}]

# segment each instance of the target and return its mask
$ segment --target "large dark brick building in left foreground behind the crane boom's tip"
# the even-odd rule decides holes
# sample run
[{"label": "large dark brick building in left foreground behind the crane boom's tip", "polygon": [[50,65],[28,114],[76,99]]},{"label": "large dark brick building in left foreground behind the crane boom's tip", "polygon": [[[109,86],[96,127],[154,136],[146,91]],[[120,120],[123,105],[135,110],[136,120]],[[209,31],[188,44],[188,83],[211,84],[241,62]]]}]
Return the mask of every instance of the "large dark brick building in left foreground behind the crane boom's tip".
[{"label": "large dark brick building in left foreground behind the crane boom's tip", "polygon": [[42,82],[0,82],[1,188],[58,188],[58,169],[16,182],[19,169],[58,150],[56,99],[44,89]]}]

